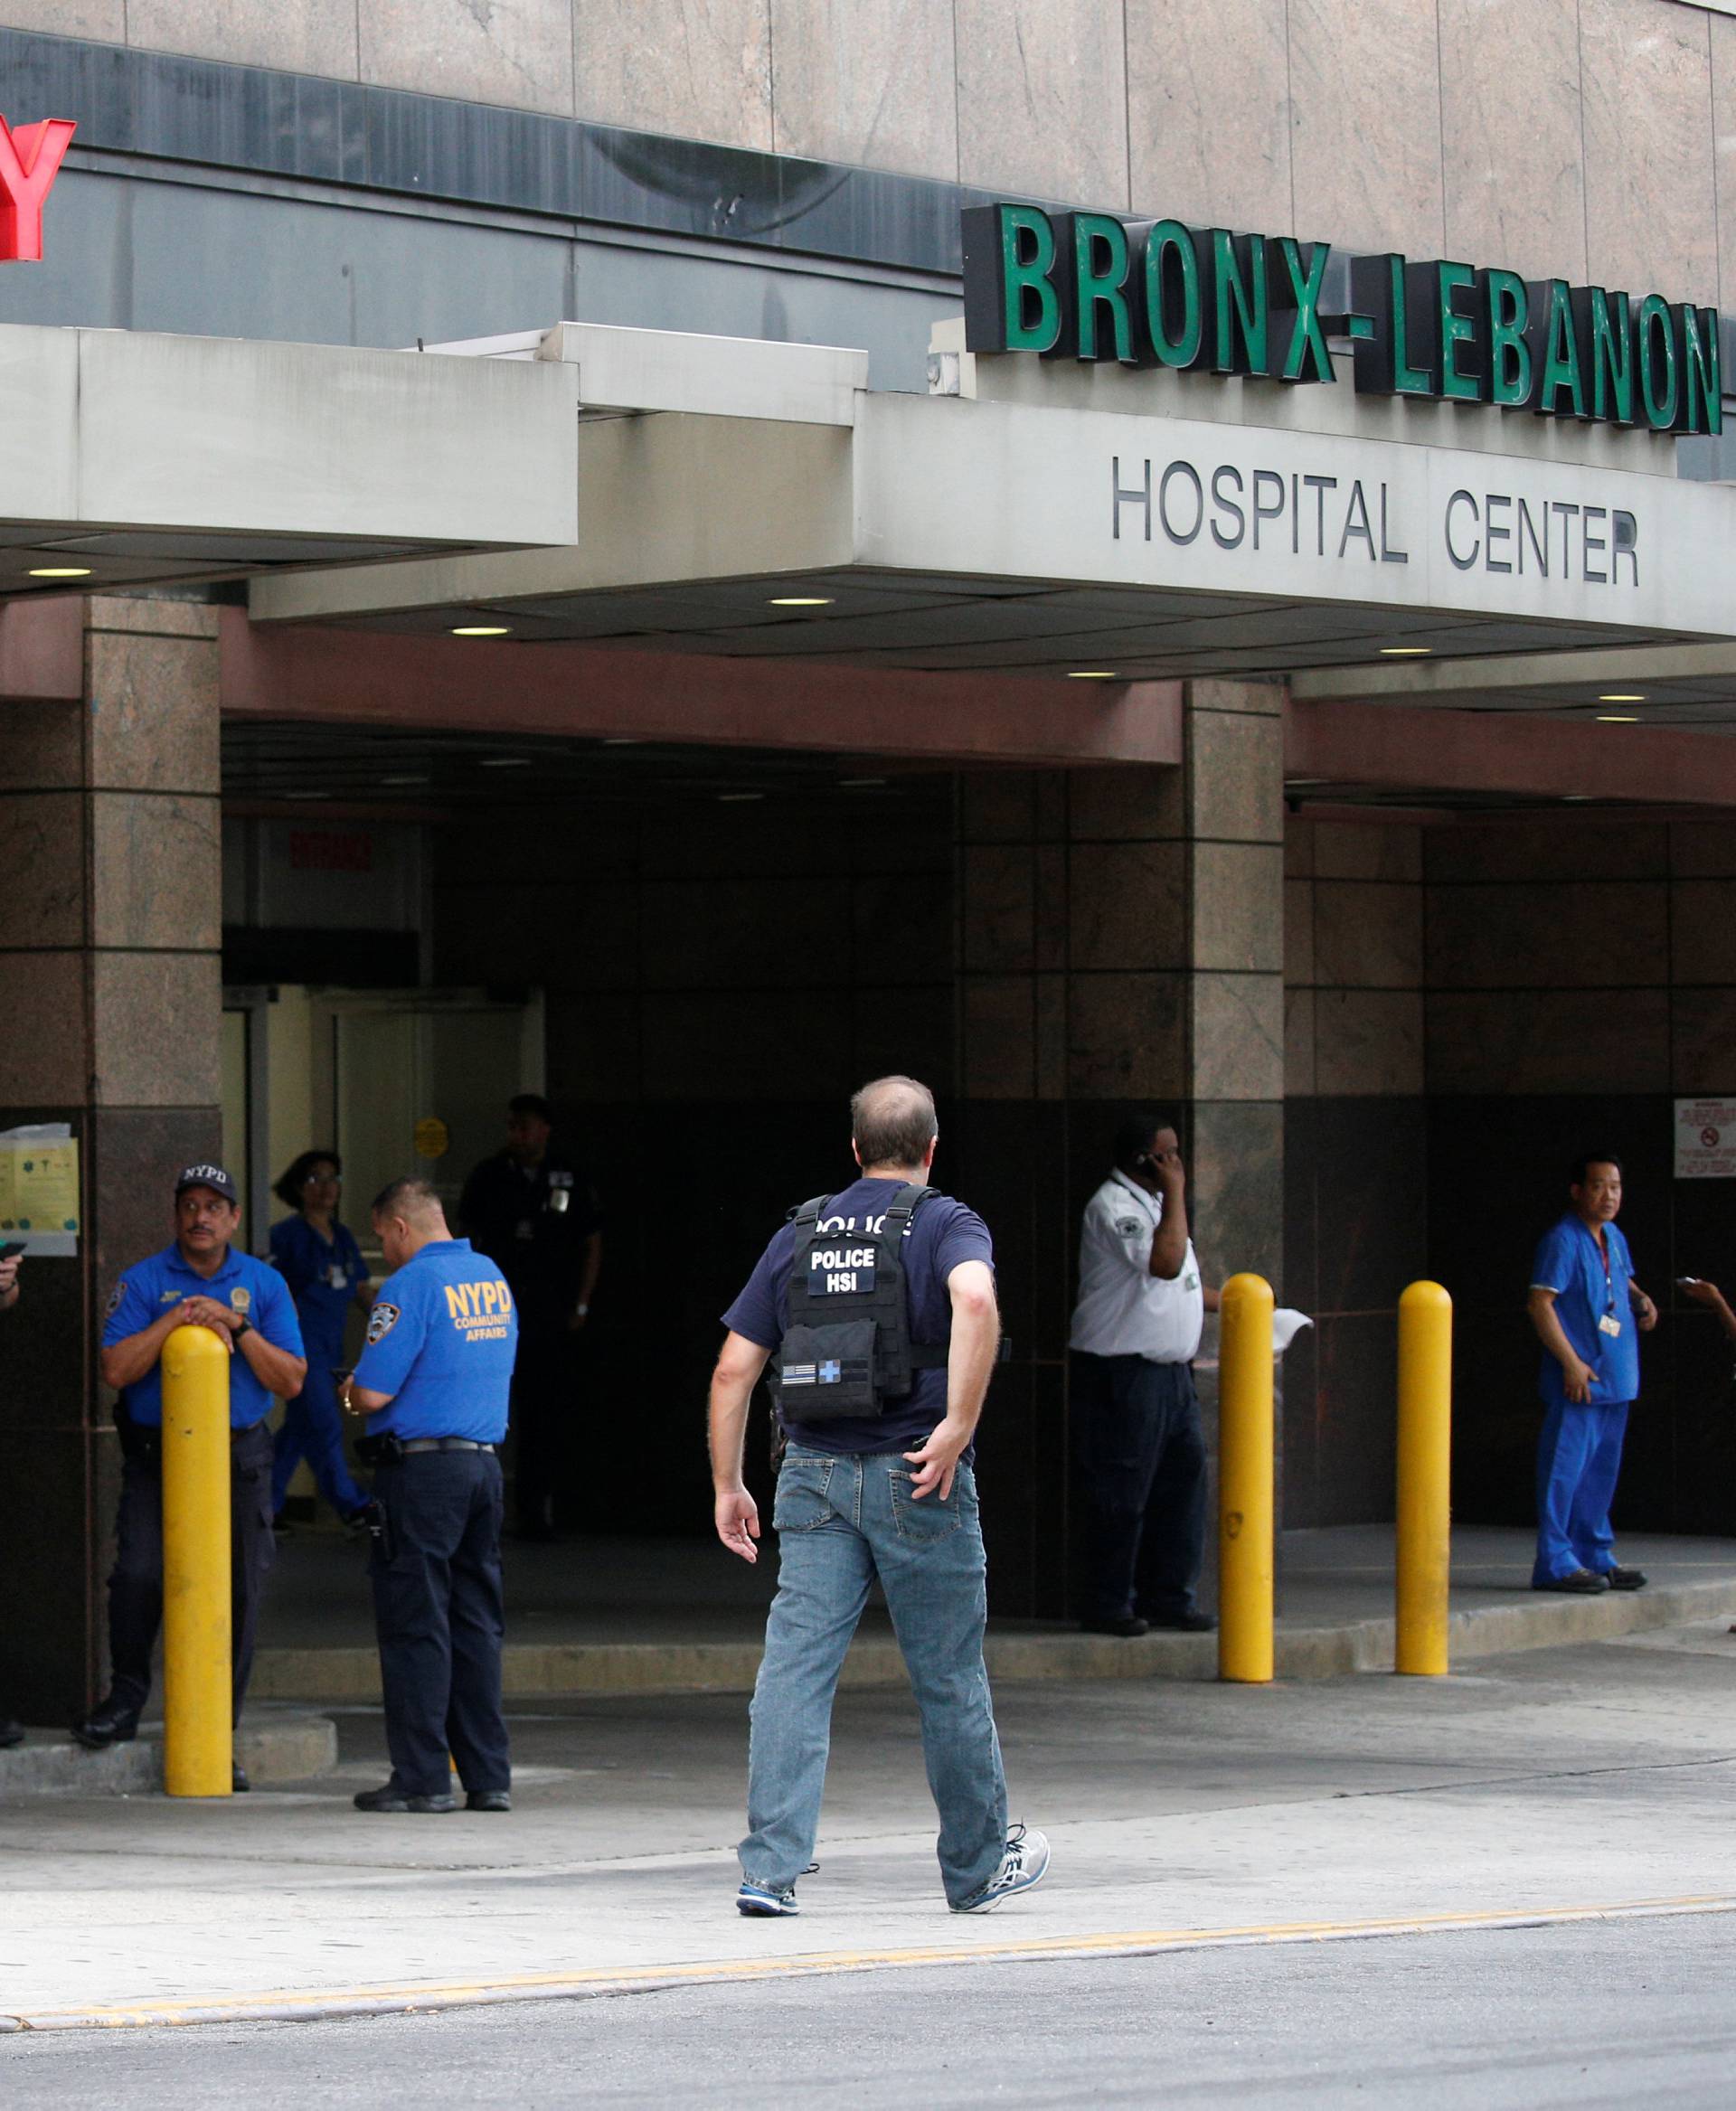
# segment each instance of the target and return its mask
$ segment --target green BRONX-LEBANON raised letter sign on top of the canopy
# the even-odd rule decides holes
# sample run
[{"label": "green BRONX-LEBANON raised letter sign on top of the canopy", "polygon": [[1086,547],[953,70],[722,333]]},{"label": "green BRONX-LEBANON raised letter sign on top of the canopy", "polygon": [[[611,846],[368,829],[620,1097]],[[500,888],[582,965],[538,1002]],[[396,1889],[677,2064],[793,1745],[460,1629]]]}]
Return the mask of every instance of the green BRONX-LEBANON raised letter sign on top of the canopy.
[{"label": "green BRONX-LEBANON raised letter sign on top of the canopy", "polygon": [[961,220],[971,353],[1335,382],[1326,340],[1347,338],[1362,395],[1723,431],[1717,308],[1388,253],[1354,255],[1354,306],[1328,312],[1331,243],[1035,205]]}]

